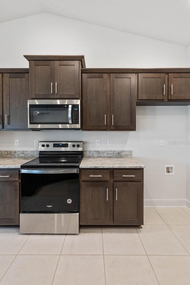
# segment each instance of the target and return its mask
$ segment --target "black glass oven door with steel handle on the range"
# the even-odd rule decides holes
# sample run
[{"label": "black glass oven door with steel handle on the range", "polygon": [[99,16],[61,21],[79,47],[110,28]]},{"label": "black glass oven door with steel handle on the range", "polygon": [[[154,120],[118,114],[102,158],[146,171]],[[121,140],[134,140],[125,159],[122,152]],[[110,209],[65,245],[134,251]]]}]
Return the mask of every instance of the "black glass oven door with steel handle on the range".
[{"label": "black glass oven door with steel handle on the range", "polygon": [[21,213],[78,213],[79,169],[20,169]]}]

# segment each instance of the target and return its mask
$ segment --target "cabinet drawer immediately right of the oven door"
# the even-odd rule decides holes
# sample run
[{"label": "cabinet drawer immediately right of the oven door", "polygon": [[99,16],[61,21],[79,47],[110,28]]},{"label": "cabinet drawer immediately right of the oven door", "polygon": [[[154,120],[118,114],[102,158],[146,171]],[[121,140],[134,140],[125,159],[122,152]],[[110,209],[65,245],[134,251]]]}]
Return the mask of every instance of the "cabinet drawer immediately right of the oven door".
[{"label": "cabinet drawer immediately right of the oven door", "polygon": [[110,180],[110,170],[81,170],[81,180],[85,181],[102,181]]}]

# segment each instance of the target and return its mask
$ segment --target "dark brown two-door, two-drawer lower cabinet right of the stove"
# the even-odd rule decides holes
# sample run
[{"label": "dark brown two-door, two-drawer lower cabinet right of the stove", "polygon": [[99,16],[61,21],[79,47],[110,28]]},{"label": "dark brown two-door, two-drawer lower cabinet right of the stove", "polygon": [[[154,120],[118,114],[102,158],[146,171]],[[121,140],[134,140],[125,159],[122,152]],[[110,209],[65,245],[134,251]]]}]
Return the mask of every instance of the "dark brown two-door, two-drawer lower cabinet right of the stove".
[{"label": "dark brown two-door, two-drawer lower cabinet right of the stove", "polygon": [[80,225],[142,224],[143,168],[80,170]]}]

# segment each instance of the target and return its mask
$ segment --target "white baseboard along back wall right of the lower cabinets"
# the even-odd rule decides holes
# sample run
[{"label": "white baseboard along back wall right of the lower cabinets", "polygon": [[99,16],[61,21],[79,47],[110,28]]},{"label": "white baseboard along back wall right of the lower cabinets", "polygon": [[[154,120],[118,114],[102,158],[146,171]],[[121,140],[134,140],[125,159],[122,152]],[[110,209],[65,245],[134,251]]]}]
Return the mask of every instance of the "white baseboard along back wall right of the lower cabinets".
[{"label": "white baseboard along back wall right of the lower cabinets", "polygon": [[187,199],[144,199],[144,207],[190,208],[190,201],[188,201]]}]

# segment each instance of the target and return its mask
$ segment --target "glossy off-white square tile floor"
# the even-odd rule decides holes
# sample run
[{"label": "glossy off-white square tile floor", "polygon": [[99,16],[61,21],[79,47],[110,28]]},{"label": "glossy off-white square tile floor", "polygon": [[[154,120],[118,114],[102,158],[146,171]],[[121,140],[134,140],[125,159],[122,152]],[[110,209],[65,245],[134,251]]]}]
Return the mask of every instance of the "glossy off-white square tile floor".
[{"label": "glossy off-white square tile floor", "polygon": [[0,285],[189,285],[190,210],[145,208],[144,226],[79,235],[0,229]]}]

